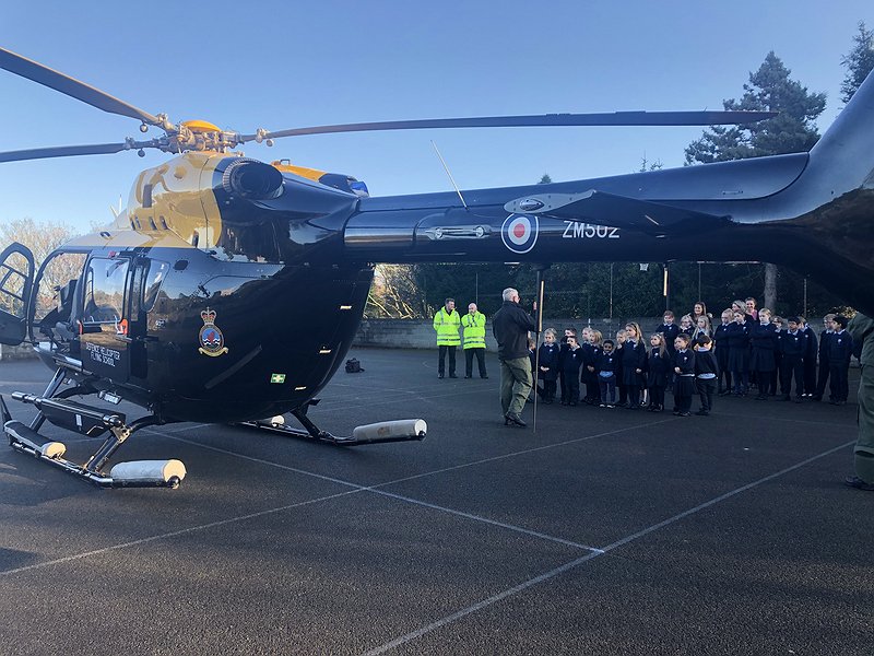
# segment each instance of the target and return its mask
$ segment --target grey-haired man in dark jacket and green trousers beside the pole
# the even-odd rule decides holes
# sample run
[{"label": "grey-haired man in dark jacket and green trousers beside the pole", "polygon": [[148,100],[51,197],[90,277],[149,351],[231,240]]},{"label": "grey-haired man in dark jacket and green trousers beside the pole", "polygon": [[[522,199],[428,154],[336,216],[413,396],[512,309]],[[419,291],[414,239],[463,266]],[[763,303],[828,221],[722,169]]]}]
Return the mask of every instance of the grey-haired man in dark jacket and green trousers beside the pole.
[{"label": "grey-haired man in dark jacket and green trousers beside the pole", "polygon": [[492,332],[498,342],[500,361],[500,407],[504,411],[504,425],[525,425],[520,413],[531,393],[528,332],[536,329],[534,317],[519,306],[519,292],[512,288],[504,290],[504,305],[492,319]]}]

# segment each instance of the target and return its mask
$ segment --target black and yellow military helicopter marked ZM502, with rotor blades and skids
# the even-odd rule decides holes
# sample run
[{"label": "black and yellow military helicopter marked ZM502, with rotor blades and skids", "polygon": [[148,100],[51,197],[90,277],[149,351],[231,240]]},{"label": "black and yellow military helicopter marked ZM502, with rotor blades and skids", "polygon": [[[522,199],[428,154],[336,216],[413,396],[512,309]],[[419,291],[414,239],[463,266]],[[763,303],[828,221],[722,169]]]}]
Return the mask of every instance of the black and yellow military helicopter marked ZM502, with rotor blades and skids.
[{"label": "black and yellow military helicopter marked ZM502, with rotor blades and skids", "polygon": [[[22,453],[105,488],[176,488],[175,459],[118,462],[135,432],[170,422],[241,423],[339,445],[422,440],[423,420],[339,437],[307,410],[352,345],[375,262],[760,259],[786,265],[874,313],[874,81],[811,152],[532,186],[370,197],[365,183],[233,149],[298,134],[423,128],[717,125],[772,113],[662,112],[424,119],[252,133],[175,124],[0,48],[0,68],[163,136],[0,153],[0,162],[157,149],[111,230],[76,237],[35,270],[22,244],[0,254],[0,342],[34,347],[55,372],[25,425],[0,397]],[[779,245],[779,247],[778,247]],[[37,316],[47,267],[80,258]],[[307,321],[295,320],[306,308]],[[314,325],[315,321],[315,325]],[[125,413],[72,397],[146,410]],[[285,423],[291,414],[304,426]],[[268,418],[268,419],[265,419]],[[84,464],[39,429],[105,441]]]}]

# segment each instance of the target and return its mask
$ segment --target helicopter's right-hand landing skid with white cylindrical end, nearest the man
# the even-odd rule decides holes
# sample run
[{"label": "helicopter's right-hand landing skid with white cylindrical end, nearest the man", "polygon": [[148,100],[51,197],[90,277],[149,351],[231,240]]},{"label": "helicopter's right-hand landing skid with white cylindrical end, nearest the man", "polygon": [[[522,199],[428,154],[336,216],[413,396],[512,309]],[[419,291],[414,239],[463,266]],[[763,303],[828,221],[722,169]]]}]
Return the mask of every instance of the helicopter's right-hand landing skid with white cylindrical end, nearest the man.
[{"label": "helicopter's right-hand landing skid with white cylindrical end, nearest the man", "polygon": [[412,440],[424,440],[428,426],[424,419],[404,419],[400,421],[385,421],[375,424],[357,426],[352,435],[342,437],[333,435],[328,431],[319,429],[306,414],[305,409],[292,410],[290,412],[299,421],[305,430],[294,429],[285,423],[285,415],[280,414],[270,419],[258,421],[246,421],[239,425],[270,431],[285,435],[286,437],[302,437],[316,442],[333,444],[335,446],[357,446],[361,444],[380,444],[388,442],[410,442]]}]

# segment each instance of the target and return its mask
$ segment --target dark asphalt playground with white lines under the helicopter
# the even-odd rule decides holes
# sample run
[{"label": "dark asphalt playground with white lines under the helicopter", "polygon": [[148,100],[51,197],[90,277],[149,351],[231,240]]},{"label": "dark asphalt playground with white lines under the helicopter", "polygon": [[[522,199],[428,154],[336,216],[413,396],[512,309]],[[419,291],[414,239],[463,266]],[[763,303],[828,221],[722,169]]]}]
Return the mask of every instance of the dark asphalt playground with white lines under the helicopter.
[{"label": "dark asphalt playground with white lines under the helicopter", "polygon": [[[117,459],[181,459],[175,491],[0,447],[0,654],[874,653],[874,493],[842,485],[854,396],[556,403],[534,431],[530,405],[504,426],[494,359],[489,379],[438,380],[433,352],[352,355],[365,371],[309,417],[423,418],[424,442],[141,431]],[[2,362],[0,394],[48,374]],[[71,459],[101,442],[43,432]]]}]

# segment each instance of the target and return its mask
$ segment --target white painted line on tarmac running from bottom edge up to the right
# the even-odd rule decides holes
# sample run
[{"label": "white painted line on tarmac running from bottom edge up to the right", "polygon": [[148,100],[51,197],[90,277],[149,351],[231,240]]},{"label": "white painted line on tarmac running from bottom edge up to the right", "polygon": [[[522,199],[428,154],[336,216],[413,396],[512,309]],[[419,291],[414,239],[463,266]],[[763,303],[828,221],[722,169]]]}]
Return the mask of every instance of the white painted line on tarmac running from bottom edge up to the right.
[{"label": "white painted line on tarmac running from bottom edge up to the right", "polygon": [[626,536],[626,537],[624,537],[624,538],[622,538],[619,540],[616,540],[615,542],[604,547],[602,553],[597,553],[597,552],[595,553],[588,553],[588,554],[586,554],[586,555],[583,555],[581,558],[578,558],[576,560],[570,561],[569,563],[565,563],[564,565],[555,567],[554,570],[550,570],[548,572],[545,572],[545,573],[541,574],[540,576],[535,576],[534,578],[530,578],[530,579],[528,579],[528,581],[525,581],[523,583],[520,583],[517,586],[513,586],[513,587],[508,588],[508,589],[506,589],[504,591],[500,591],[497,595],[493,595],[492,597],[488,597],[487,599],[483,599],[482,601],[479,601],[479,602],[474,604],[473,606],[469,606],[468,608],[462,608],[461,610],[459,610],[457,612],[453,612],[452,614],[446,616],[445,618],[441,618],[441,619],[439,619],[439,620],[437,620],[435,622],[432,622],[430,624],[426,624],[424,626],[421,626],[420,629],[416,629],[415,631],[406,633],[405,635],[401,635],[401,636],[399,636],[399,637],[397,637],[397,639],[394,639],[394,640],[392,640],[390,642],[387,642],[387,643],[385,643],[385,644],[382,644],[382,645],[380,645],[378,647],[375,647],[375,648],[373,648],[373,649],[370,649],[368,652],[365,652],[364,656],[376,656],[377,654],[383,654],[385,652],[388,652],[389,649],[393,649],[394,647],[399,647],[399,646],[401,646],[401,645],[403,645],[405,643],[409,643],[409,642],[414,641],[414,640],[416,640],[418,637],[422,637],[426,633],[430,633],[432,631],[434,631],[436,629],[439,629],[440,626],[445,626],[445,625],[447,625],[447,624],[449,624],[449,623],[451,623],[451,622],[453,622],[456,620],[460,620],[461,618],[464,618],[464,617],[466,617],[466,616],[469,616],[471,613],[474,613],[474,612],[476,612],[479,610],[482,610],[483,608],[486,608],[487,606],[492,606],[493,604],[496,604],[497,601],[506,599],[507,597],[510,597],[510,596],[512,596],[512,595],[515,595],[517,593],[521,593],[521,591],[523,591],[523,590],[525,590],[525,589],[528,589],[528,588],[530,588],[532,586],[535,586],[535,585],[541,584],[541,583],[543,583],[545,581],[554,578],[555,576],[558,576],[559,574],[564,574],[565,572],[568,572],[568,571],[572,570],[574,567],[576,567],[578,565],[581,565],[584,562],[593,560],[593,559],[598,558],[599,555],[602,555],[604,553],[609,553],[610,551],[612,551],[614,549],[618,549],[619,547],[628,544],[629,542],[633,542],[633,541],[637,540],[638,538],[642,538],[643,536],[647,536],[647,535],[649,535],[649,534],[651,534],[653,531],[657,531],[660,528],[664,528],[665,526],[674,524],[675,522],[678,522],[680,519],[688,517],[689,515],[694,515],[695,513],[698,513],[698,512],[700,512],[700,511],[702,511],[705,508],[708,508],[708,507],[710,507],[712,505],[716,505],[716,504],[718,504],[718,503],[720,503],[720,502],[722,502],[722,501],[724,501],[727,499],[735,496],[736,494],[741,494],[742,492],[746,492],[747,490],[751,490],[751,489],[756,488],[756,487],[758,487],[758,485],[760,485],[763,483],[766,483],[766,482],[768,482],[770,480],[773,480],[773,479],[776,479],[778,477],[781,477],[781,476],[783,476],[786,473],[789,473],[790,471],[794,471],[795,469],[804,467],[805,465],[810,465],[814,460],[818,460],[819,458],[824,458],[825,456],[829,456],[829,455],[831,455],[831,454],[834,454],[836,452],[839,452],[841,449],[847,448],[848,446],[852,446],[853,444],[855,444],[855,440],[853,440],[852,442],[848,442],[846,444],[841,444],[840,446],[836,446],[835,448],[830,448],[830,449],[828,449],[826,452],[823,452],[823,453],[820,453],[820,454],[818,454],[816,456],[812,456],[812,457],[807,458],[806,460],[802,460],[801,462],[796,462],[795,465],[792,465],[791,467],[787,467],[786,469],[781,469],[780,471],[778,471],[776,473],[771,473],[771,475],[766,476],[764,478],[760,478],[757,481],[753,481],[752,483],[747,483],[746,485],[742,485],[740,488],[736,488],[735,490],[732,490],[731,492],[727,492],[725,494],[720,494],[719,496],[716,496],[716,497],[711,499],[710,501],[706,501],[705,503],[701,503],[701,504],[695,506],[694,508],[689,508],[688,511],[684,511],[683,513],[674,515],[673,517],[669,517],[668,519],[665,519],[663,522],[659,522],[658,524],[653,524],[652,526],[649,526],[649,527],[647,527],[647,528],[645,528],[642,530],[639,530],[639,531],[637,531],[635,534],[631,534],[631,535]]}]

